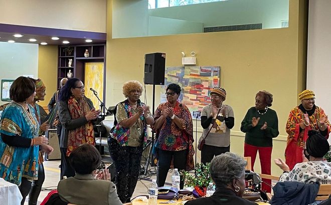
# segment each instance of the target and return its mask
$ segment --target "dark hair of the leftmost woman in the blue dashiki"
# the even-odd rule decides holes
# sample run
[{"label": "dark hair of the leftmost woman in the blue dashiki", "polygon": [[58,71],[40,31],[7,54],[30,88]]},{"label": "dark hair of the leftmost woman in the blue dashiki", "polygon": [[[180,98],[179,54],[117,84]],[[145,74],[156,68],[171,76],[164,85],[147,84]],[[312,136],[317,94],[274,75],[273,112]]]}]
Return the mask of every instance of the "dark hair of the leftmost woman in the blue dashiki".
[{"label": "dark hair of the leftmost woman in the blue dashiki", "polygon": [[36,80],[20,76],[12,84],[9,97],[16,102],[24,102],[36,91]]}]

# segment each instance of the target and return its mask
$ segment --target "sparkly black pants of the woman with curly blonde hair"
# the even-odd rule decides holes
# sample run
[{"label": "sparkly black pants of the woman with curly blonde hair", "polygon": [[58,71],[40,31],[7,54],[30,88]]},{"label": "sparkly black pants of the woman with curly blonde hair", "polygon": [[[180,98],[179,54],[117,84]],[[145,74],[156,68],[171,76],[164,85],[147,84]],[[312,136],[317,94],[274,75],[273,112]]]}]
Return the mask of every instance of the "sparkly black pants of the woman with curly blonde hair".
[{"label": "sparkly black pants of the woman with curly blonde hair", "polygon": [[122,203],[130,200],[137,184],[142,146],[120,146],[115,139],[108,140],[110,156],[116,168],[116,190]]}]

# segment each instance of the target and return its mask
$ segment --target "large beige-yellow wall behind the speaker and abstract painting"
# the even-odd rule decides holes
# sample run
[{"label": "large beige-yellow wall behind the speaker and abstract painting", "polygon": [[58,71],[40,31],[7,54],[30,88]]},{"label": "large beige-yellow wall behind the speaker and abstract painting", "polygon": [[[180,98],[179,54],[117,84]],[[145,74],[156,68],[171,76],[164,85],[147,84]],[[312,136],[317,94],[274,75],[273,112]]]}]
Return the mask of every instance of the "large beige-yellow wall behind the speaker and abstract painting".
[{"label": "large beige-yellow wall behind the speaker and abstract painting", "polygon": [[[111,30],[108,1],[107,31]],[[167,53],[166,66],[181,66],[181,52],[197,53],[198,66],[221,66],[221,86],[227,90],[226,104],[233,107],[235,126],[231,133],[231,151],[243,154],[244,134],[240,123],[259,90],[274,95],[280,136],[274,140],[272,158],[283,157],[286,146],[285,124],[291,108],[297,105],[297,93],[305,84],[303,61],[306,32],[303,25],[307,1],[289,1],[289,28],[206,34],[107,39],[106,103],[115,105],[124,99],[125,81],[143,81],[144,54]],[[303,34],[301,34],[303,33]],[[151,106],[151,85],[146,86],[147,104]],[[122,96],[122,97],[119,97]],[[156,86],[156,106],[159,86]],[[201,131],[200,126],[198,130]],[[198,134],[199,135],[199,134]],[[200,161],[200,160],[198,160]],[[259,163],[255,165],[259,171]],[[272,174],[280,169],[272,166]]]}]

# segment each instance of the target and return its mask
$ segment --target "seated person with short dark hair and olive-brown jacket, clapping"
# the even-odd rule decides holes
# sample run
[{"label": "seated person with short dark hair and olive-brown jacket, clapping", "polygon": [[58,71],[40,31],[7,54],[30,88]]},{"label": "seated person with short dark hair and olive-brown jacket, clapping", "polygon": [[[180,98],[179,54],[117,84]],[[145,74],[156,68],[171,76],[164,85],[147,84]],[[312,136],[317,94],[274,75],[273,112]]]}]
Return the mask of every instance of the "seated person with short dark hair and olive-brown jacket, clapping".
[{"label": "seated person with short dark hair and olive-brown jacket, clapping", "polygon": [[108,169],[96,174],[101,156],[93,145],[80,145],[71,152],[69,160],[76,175],[59,182],[58,193],[62,200],[85,205],[122,205],[114,183],[108,181]]}]

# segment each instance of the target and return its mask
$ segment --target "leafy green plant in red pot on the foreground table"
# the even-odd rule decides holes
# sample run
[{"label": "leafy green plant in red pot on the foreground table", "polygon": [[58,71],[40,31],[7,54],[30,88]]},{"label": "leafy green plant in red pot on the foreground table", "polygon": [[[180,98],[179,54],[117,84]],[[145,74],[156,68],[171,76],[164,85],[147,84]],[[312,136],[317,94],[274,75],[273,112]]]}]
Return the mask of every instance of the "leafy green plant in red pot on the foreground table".
[{"label": "leafy green plant in red pot on the foreground table", "polygon": [[210,176],[209,166],[210,163],[197,163],[194,175],[192,175],[189,171],[182,171],[185,184],[187,186],[194,187],[199,196],[206,195],[209,182],[213,181]]}]

